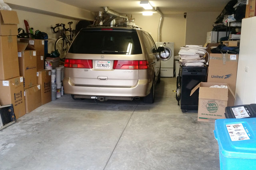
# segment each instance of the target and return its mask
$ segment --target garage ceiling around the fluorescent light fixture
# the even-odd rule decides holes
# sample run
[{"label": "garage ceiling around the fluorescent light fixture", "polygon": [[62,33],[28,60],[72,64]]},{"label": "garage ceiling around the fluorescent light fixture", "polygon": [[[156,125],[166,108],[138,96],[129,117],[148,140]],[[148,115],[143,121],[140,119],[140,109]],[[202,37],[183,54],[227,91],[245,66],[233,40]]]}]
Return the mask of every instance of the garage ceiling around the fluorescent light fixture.
[{"label": "garage ceiling around the fluorescent light fixture", "polygon": [[[140,14],[145,11],[138,0],[58,0],[91,12],[103,11],[104,6],[120,14]],[[163,14],[184,12],[218,12],[230,0],[149,0]]]}]

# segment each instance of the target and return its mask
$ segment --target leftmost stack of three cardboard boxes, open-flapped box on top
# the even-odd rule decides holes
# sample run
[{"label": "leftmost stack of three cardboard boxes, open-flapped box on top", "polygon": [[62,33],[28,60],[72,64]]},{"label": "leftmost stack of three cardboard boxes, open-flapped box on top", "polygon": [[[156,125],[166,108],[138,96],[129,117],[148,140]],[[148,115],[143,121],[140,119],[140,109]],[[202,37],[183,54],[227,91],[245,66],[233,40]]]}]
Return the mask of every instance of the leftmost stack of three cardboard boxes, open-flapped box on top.
[{"label": "leftmost stack of three cardboard boxes, open-flapped box on top", "polygon": [[18,23],[15,11],[0,10],[0,105],[12,103],[16,119],[26,113],[17,56]]}]

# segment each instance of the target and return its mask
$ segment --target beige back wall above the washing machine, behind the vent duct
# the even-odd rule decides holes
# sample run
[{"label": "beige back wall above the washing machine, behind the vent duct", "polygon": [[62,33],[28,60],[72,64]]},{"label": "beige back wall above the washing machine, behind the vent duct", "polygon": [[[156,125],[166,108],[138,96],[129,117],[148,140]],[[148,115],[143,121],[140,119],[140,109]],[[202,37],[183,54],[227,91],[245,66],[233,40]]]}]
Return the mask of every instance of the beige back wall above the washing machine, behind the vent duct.
[{"label": "beige back wall above the washing machine, behind the vent duct", "polygon": [[[188,44],[204,45],[206,33],[212,30],[212,24],[220,12],[191,12],[184,14],[164,15],[160,41],[174,42],[174,55],[178,55],[180,47]],[[153,16],[132,15],[135,24],[150,32],[153,39],[158,41],[159,14]]]}]

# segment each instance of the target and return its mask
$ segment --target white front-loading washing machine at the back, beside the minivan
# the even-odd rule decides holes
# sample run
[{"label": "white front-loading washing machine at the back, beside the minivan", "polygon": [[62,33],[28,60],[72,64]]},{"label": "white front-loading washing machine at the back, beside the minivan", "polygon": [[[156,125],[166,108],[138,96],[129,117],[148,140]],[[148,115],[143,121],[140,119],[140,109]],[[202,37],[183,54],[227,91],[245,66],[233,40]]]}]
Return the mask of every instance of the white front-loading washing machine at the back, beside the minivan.
[{"label": "white front-loading washing machine at the back, beside the minivan", "polygon": [[161,77],[173,77],[174,72],[174,42],[156,42],[157,47],[164,47],[165,50],[160,54],[161,61]]}]

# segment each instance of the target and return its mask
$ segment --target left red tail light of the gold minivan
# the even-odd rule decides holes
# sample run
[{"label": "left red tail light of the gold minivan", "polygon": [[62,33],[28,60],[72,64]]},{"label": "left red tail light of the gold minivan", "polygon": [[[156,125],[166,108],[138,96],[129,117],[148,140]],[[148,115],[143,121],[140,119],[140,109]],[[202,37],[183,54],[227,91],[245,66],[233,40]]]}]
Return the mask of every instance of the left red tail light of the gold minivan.
[{"label": "left red tail light of the gold minivan", "polygon": [[91,59],[65,59],[64,66],[68,68],[92,69],[92,60]]}]

